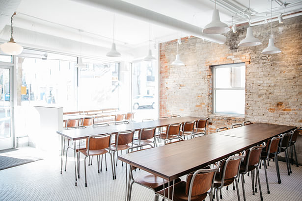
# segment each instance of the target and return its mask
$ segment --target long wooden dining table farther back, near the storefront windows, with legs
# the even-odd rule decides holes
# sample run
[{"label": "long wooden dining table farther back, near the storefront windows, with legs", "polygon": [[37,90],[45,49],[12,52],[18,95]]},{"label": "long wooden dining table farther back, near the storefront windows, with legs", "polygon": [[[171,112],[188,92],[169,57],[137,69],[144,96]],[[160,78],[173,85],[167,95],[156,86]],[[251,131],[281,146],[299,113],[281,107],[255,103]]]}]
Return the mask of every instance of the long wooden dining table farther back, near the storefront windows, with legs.
[{"label": "long wooden dining table farther back, near the storefront windows, with legs", "polygon": [[[156,121],[149,122],[138,122],[138,123],[130,123],[130,124],[121,124],[121,125],[110,125],[110,126],[99,126],[99,127],[87,127],[87,128],[78,128],[78,129],[66,129],[66,130],[58,130],[57,134],[61,136],[61,174],[63,167],[63,155],[64,155],[64,139],[69,139],[73,141],[73,149],[74,149],[74,162],[75,162],[75,185],[77,185],[77,148],[80,148],[80,140],[86,139],[90,135],[102,135],[102,134],[116,134],[121,131],[126,130],[140,130],[141,128],[147,127],[162,127],[168,126],[170,124],[176,123],[184,123],[189,121],[196,121],[198,119],[202,119],[199,117],[175,117],[169,119],[161,119]],[[77,141],[79,141],[77,146]]]}]

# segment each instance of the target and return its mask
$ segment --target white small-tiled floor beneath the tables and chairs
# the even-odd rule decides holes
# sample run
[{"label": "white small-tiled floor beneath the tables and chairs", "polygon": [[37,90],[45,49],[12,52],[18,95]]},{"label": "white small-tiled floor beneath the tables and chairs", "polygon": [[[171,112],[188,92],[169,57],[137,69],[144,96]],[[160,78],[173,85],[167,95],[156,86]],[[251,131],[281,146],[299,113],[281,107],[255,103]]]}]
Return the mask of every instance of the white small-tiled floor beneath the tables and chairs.
[{"label": "white small-tiled floor beneath the tables and chairs", "polygon": [[[13,155],[44,156],[44,160],[28,163],[0,171],[0,200],[1,201],[123,201],[125,200],[125,166],[119,161],[116,169],[117,179],[112,180],[111,168],[100,174],[97,173],[96,158],[93,165],[87,166],[88,187],[85,188],[83,176],[83,161],[81,161],[81,178],[78,186],[74,185],[73,157],[68,158],[67,172],[60,174],[60,157],[54,154],[26,148],[7,153]],[[1,153],[1,155],[7,155]],[[71,156],[71,155],[70,155]],[[108,164],[110,163],[109,158]],[[104,165],[104,164],[103,164]],[[302,167],[292,165],[292,175],[287,175],[286,164],[279,161],[281,184],[277,183],[275,163],[271,162],[268,168],[271,194],[267,194],[265,175],[260,169],[260,179],[263,198],[265,201],[302,201]],[[139,176],[143,171],[137,171]],[[183,178],[185,179],[185,177]],[[245,177],[247,201],[260,200],[259,191],[252,195],[250,177]],[[239,183],[242,195],[242,186]],[[232,188],[222,190],[224,201],[237,200],[236,191]],[[134,184],[132,201],[153,201],[152,190]],[[208,198],[207,198],[208,200]]]}]

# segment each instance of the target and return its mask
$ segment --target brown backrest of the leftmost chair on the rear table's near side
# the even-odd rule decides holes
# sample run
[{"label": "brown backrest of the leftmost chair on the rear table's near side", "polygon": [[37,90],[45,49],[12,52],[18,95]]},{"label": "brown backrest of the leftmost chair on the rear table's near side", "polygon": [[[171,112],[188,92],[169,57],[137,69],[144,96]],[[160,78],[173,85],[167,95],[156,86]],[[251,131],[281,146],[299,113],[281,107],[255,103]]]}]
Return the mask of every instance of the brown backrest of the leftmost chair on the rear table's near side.
[{"label": "brown backrest of the leftmost chair on the rear table's near side", "polygon": [[[110,138],[110,134],[90,137],[89,150],[103,150],[109,148]],[[86,138],[86,149],[88,149],[88,138]]]}]

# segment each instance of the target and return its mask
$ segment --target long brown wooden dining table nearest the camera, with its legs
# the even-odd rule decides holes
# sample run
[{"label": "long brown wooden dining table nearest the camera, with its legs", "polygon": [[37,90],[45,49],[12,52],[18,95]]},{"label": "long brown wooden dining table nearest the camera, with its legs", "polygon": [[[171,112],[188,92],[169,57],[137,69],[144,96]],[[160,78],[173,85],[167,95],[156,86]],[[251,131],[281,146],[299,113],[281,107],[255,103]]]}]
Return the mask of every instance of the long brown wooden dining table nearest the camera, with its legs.
[{"label": "long brown wooden dining table nearest the camera, with its legs", "polygon": [[[163,179],[173,181],[179,176],[218,162],[295,128],[295,126],[265,123],[251,124],[162,147],[123,154],[118,156],[118,159]],[[130,171],[131,168],[129,168],[129,179]],[[130,180],[128,184],[129,182]]]}]

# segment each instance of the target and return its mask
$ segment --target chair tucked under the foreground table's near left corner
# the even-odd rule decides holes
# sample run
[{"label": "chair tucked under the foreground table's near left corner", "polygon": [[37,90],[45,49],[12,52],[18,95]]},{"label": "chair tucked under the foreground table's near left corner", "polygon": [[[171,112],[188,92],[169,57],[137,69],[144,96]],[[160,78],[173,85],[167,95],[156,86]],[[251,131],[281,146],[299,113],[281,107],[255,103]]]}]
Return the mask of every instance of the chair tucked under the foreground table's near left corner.
[{"label": "chair tucked under the foreground table's near left corner", "polygon": [[[143,145],[131,147],[131,148],[127,149],[127,153],[142,151],[142,150],[147,150],[147,149],[153,149],[153,146],[151,144],[143,144]],[[128,165],[126,164],[126,173],[127,173],[127,166]],[[128,196],[126,196],[127,201],[131,201],[132,186],[134,183],[139,184],[148,189],[151,189],[151,190],[153,190],[154,193],[160,191],[161,189],[164,189],[164,183],[165,183],[165,186],[168,186],[167,180],[165,180],[159,176],[153,175],[151,173],[144,172],[144,171],[143,171],[143,173],[140,173],[138,176],[136,176],[134,178],[133,171],[136,169],[137,169],[137,167],[130,165],[130,170],[129,170],[130,179],[128,182],[128,187],[127,187],[127,174],[126,174],[126,189],[128,192],[127,193]],[[180,181],[181,181],[180,178],[176,178],[174,180],[174,183],[178,183]],[[172,184],[172,182],[170,182],[170,184]]]}]

